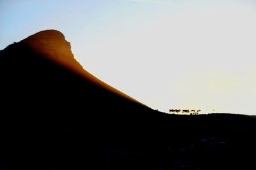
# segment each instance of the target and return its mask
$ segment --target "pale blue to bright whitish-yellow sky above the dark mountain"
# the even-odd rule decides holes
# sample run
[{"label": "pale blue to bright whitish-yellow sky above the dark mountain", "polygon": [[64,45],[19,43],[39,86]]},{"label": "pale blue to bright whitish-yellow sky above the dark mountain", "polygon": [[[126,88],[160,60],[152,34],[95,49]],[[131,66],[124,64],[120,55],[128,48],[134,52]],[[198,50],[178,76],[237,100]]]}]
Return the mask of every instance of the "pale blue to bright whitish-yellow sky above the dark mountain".
[{"label": "pale blue to bright whitish-yellow sky above the dark mountain", "polygon": [[256,115],[253,0],[0,0],[0,25],[0,50],[63,32],[86,71],[154,110]]}]

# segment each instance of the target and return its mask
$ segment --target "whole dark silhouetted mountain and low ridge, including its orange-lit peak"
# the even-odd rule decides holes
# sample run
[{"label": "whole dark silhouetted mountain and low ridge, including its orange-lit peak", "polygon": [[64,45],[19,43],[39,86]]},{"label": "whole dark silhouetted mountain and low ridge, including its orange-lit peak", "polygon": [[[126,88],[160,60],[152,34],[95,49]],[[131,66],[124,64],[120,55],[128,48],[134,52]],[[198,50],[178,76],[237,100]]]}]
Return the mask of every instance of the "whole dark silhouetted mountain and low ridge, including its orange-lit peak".
[{"label": "whole dark silhouetted mountain and low ridge, including its orange-lit peak", "polygon": [[151,110],[70,48],[49,30],[0,51],[0,169],[255,169],[255,117]]}]

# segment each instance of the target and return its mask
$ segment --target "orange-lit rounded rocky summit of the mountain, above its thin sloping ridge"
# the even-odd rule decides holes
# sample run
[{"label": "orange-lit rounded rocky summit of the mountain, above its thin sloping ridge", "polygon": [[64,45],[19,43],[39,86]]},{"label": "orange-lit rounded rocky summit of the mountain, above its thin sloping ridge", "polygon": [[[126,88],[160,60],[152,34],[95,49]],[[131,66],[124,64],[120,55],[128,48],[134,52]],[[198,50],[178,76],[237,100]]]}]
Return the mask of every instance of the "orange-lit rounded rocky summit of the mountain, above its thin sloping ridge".
[{"label": "orange-lit rounded rocky summit of the mountain, above its thin sloping ridge", "polygon": [[84,74],[83,67],[74,59],[71,45],[65,36],[56,30],[40,31],[20,41],[47,59],[67,67],[79,74]]}]

